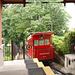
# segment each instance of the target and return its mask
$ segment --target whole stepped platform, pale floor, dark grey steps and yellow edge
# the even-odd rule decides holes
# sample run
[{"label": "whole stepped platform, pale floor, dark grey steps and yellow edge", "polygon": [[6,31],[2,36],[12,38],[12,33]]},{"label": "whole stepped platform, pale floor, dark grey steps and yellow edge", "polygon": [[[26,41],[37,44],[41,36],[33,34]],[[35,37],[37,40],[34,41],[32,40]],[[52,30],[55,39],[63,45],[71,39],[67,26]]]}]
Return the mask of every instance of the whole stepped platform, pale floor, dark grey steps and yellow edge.
[{"label": "whole stepped platform, pale floor, dark grey steps and yellow edge", "polygon": [[45,67],[38,59],[5,61],[0,66],[0,75],[55,75],[50,67]]}]

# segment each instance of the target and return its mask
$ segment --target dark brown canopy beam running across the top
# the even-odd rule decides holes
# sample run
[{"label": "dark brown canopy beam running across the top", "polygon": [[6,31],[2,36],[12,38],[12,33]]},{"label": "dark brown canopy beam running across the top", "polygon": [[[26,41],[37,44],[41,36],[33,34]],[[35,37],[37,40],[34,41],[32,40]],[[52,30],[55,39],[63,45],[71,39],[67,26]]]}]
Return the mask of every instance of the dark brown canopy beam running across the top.
[{"label": "dark brown canopy beam running across the top", "polygon": [[[1,0],[2,4],[28,4],[28,3],[32,3],[35,0]],[[37,0],[38,1],[38,0]],[[45,0],[40,0],[42,3],[48,3]],[[59,2],[55,2],[54,0],[52,1],[53,3],[75,3],[75,0],[59,0]],[[52,3],[51,2],[51,3]]]}]

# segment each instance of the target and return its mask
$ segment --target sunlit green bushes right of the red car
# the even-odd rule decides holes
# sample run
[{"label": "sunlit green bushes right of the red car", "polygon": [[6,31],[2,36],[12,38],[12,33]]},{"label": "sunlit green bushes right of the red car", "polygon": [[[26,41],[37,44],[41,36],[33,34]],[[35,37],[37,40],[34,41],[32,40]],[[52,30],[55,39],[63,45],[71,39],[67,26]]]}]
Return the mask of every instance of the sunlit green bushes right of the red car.
[{"label": "sunlit green bushes right of the red car", "polygon": [[75,31],[70,31],[63,37],[55,35],[53,36],[52,42],[55,47],[55,51],[64,57],[65,54],[70,53],[71,45],[75,43]]}]

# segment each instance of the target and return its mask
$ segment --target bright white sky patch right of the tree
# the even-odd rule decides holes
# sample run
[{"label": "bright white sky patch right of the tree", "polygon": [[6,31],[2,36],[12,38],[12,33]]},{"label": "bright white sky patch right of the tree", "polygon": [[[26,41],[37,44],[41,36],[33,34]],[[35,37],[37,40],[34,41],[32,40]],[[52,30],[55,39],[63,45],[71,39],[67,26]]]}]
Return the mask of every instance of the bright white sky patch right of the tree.
[{"label": "bright white sky patch right of the tree", "polygon": [[69,29],[75,28],[75,4],[67,3],[65,6],[65,10],[71,15],[71,19],[69,20]]}]

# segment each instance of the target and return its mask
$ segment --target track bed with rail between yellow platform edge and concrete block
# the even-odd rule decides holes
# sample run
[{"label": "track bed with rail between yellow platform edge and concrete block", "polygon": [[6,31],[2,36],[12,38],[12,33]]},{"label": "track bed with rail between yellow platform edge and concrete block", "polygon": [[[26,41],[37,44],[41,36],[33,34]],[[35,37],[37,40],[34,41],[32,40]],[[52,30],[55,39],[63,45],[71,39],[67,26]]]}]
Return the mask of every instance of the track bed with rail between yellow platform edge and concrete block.
[{"label": "track bed with rail between yellow platform edge and concrete block", "polygon": [[43,64],[44,64],[44,66],[50,66],[50,68],[52,69],[52,71],[56,75],[73,75],[71,73],[66,73],[66,72],[61,71],[61,69],[64,68],[64,66],[60,65],[59,63],[56,63],[56,62],[52,62],[52,63],[44,62]]}]

